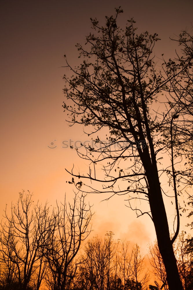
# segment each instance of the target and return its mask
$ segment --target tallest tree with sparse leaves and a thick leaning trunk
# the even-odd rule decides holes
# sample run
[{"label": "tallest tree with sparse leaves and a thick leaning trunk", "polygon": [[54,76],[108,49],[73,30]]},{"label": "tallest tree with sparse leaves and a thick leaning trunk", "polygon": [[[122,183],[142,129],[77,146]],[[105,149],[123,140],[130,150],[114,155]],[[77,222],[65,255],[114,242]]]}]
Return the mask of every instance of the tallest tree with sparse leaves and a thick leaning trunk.
[{"label": "tallest tree with sparse leaves and a thick leaning trunk", "polygon": [[[128,194],[129,206],[137,215],[146,213],[154,223],[169,289],[181,290],[183,286],[172,248],[179,232],[180,217],[171,129],[173,120],[177,118],[176,107],[171,108],[166,98],[165,112],[159,111],[157,102],[164,101],[161,94],[168,92],[168,84],[180,77],[186,65],[179,65],[174,70],[170,59],[166,62],[168,70],[156,70],[152,51],[159,40],[158,35],[148,32],[137,34],[133,19],[122,30],[117,26],[117,16],[121,12],[118,8],[115,17],[106,17],[105,26],[99,26],[96,19],[91,19],[95,33],[87,37],[86,48],[77,44],[80,57],[83,57],[82,64],[72,68],[67,63],[73,75],[71,78],[64,76],[64,93],[68,101],[63,107],[70,112],[70,122],[84,124],[88,128],[92,126],[94,129],[88,135],[109,129],[106,142],[98,136],[94,139],[96,144],[101,145],[100,148],[84,146],[85,151],[78,152],[81,158],[89,161],[90,169],[88,175],[71,171],[72,183],[80,187],[84,186],[84,180],[91,180],[101,183],[102,189],[96,190],[88,183],[89,189],[84,187],[82,190],[107,192],[111,196]],[[171,129],[170,135],[168,128]],[[162,168],[161,159],[166,155],[171,160],[167,159],[166,167]],[[97,176],[97,166],[101,162],[104,178]],[[174,191],[177,215],[172,239],[162,196],[161,177],[166,173]],[[76,183],[74,177],[80,181]],[[144,211],[144,207],[133,208],[133,200],[140,200],[149,208]]]}]

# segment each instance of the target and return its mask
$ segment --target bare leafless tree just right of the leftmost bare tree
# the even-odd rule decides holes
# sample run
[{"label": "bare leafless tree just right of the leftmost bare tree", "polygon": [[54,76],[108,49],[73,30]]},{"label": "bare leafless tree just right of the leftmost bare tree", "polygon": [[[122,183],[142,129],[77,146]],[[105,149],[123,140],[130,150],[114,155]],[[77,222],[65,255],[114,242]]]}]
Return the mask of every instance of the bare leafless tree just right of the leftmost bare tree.
[{"label": "bare leafless tree just right of the leftmost bare tree", "polygon": [[76,194],[73,204],[67,205],[65,198],[64,204],[57,204],[53,210],[54,226],[46,244],[46,283],[49,289],[69,289],[79,264],[75,258],[81,243],[91,232],[90,208],[85,204],[85,196]]}]

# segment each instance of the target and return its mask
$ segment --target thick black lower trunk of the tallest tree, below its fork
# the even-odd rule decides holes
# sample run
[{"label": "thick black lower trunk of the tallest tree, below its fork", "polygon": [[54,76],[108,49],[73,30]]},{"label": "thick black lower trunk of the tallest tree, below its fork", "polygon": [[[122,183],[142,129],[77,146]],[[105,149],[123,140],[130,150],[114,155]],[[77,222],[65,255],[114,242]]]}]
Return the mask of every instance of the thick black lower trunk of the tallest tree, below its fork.
[{"label": "thick black lower trunk of the tallest tree, below its fork", "polygon": [[152,174],[152,172],[150,178],[151,182],[149,182],[149,203],[153,223],[155,226],[159,251],[161,253],[166,269],[168,287],[169,290],[183,290],[177,267],[177,261],[170,240],[168,220],[161,193],[159,178],[157,178],[156,174]]}]

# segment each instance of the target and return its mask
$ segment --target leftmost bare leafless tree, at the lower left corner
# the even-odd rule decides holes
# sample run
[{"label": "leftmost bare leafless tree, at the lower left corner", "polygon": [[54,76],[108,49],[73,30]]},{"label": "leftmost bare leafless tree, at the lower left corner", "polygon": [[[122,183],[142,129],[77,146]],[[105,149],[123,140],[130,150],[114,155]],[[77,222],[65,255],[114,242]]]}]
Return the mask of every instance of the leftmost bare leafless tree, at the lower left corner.
[{"label": "leftmost bare leafless tree, at the lower left corner", "polygon": [[40,288],[46,267],[42,249],[50,229],[48,211],[47,204],[33,206],[30,192],[20,193],[10,216],[6,207],[1,221],[0,258],[7,289]]}]

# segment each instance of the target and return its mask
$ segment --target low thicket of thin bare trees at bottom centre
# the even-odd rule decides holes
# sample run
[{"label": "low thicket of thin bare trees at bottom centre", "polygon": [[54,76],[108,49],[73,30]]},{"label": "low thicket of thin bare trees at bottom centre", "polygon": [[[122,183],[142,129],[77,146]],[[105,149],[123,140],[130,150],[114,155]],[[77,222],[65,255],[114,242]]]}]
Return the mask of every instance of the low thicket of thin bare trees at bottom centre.
[{"label": "low thicket of thin bare trees at bottom centre", "polygon": [[109,231],[104,239],[89,240],[84,252],[74,282],[78,289],[146,290],[149,276],[137,244],[129,249],[128,242],[115,242]]}]

